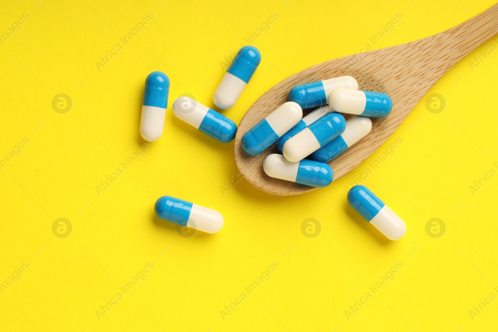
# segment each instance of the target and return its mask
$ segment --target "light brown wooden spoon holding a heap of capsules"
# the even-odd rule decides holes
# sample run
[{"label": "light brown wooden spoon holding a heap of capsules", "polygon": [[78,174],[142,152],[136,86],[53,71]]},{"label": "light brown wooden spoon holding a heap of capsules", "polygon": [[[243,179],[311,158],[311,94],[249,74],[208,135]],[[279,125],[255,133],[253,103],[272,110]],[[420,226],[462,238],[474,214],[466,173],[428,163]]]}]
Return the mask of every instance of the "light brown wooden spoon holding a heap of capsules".
[{"label": "light brown wooden spoon holding a heap of capsules", "polygon": [[290,76],[265,92],[242,118],[235,136],[235,161],[241,174],[256,188],[273,195],[298,195],[318,189],[267,176],[263,160],[270,151],[278,153],[274,147],[257,156],[248,155],[241,147],[242,136],[287,102],[293,86],[349,75],[358,81],[361,90],[383,92],[392,99],[391,113],[385,118],[372,118],[372,131],[329,162],[335,181],[370,156],[448,69],[497,33],[498,4],[495,4],[436,35],[325,61]]}]

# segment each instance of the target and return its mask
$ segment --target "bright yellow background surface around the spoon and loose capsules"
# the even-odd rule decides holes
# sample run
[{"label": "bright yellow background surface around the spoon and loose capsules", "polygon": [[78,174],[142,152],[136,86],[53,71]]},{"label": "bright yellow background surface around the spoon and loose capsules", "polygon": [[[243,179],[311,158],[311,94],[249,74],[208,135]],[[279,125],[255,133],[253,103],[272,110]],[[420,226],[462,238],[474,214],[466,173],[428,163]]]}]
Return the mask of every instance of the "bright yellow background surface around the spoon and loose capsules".
[{"label": "bright yellow background surface around the spoon and loose capsules", "polygon": [[[271,196],[246,180],[224,195],[221,187],[239,174],[233,142],[221,144],[171,112],[184,93],[214,107],[220,63],[272,13],[278,18],[253,43],[261,64],[237,105],[223,112],[237,123],[274,84],[361,50],[398,12],[403,18],[373,48],[438,33],[493,1],[114,2],[1,5],[0,32],[29,14],[0,45],[0,158],[29,139],[0,170],[0,282],[29,264],[0,295],[1,331],[496,329],[498,300],[474,319],[469,314],[498,295],[498,176],[474,195],[469,189],[498,170],[498,53],[469,64],[489,44],[498,46],[495,39],[429,91],[444,97],[444,111],[429,112],[424,97],[367,161],[302,196]],[[145,31],[123,45],[120,38],[149,12]],[[118,43],[123,50],[99,71],[96,62]],[[171,122],[99,196],[100,181],[143,142],[143,83],[152,70],[170,78]],[[59,93],[73,102],[65,114],[52,109]],[[406,222],[406,235],[392,242],[352,210],[345,187],[396,137],[402,144],[363,183]],[[154,215],[162,195],[210,206],[225,226],[183,238]],[[52,232],[58,218],[71,222],[69,237]],[[307,218],[319,221],[319,236],[303,235]],[[426,233],[431,218],[446,224],[442,237]],[[100,306],[147,262],[154,265],[146,278],[99,319]],[[223,319],[225,306],[272,262],[278,268],[270,279]],[[395,278],[373,294],[369,287],[396,262],[403,265]],[[372,299],[348,319],[345,311],[367,292]]]}]

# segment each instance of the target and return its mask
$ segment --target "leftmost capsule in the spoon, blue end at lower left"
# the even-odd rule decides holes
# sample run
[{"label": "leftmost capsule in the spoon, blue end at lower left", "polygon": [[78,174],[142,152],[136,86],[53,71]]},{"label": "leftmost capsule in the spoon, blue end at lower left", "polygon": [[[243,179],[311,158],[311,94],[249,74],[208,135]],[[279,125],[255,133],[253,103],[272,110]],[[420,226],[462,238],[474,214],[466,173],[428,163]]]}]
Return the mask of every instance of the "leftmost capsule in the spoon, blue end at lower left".
[{"label": "leftmost capsule in the spoon, blue end at lower left", "polygon": [[296,103],[282,104],[242,136],[242,148],[250,155],[263,152],[296,125],[302,116],[303,110]]}]

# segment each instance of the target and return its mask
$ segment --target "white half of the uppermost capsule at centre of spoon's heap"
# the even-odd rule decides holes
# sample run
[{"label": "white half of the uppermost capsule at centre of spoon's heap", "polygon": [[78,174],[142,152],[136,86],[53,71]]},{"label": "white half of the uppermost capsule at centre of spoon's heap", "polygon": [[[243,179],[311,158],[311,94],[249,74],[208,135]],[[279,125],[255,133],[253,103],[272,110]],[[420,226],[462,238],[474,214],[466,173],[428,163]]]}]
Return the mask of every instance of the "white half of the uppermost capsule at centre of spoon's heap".
[{"label": "white half of the uppermost capsule at centre of spoon's heap", "polygon": [[306,127],[283,144],[282,153],[288,161],[298,162],[319,148],[320,142],[313,131]]}]

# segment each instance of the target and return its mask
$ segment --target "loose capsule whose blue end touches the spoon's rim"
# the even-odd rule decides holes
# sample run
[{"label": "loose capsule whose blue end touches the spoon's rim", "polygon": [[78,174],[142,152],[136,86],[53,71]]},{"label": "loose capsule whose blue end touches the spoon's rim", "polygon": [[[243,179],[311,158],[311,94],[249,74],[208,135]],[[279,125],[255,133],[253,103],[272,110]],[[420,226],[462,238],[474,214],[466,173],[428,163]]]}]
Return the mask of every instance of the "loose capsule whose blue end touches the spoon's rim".
[{"label": "loose capsule whose blue end touches the spoon's rim", "polygon": [[228,143],[235,138],[237,124],[234,121],[188,96],[180,96],[175,100],[173,113],[220,142]]}]

